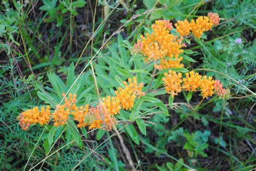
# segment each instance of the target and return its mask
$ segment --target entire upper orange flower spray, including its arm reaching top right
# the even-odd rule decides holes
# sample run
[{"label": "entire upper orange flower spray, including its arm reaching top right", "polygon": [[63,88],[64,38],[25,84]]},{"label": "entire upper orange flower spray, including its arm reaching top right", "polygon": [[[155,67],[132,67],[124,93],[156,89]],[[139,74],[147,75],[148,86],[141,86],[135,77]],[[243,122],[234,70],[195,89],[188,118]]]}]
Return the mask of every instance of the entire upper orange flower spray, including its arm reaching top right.
[{"label": "entire upper orange flower spray, including its arm reaching top right", "polygon": [[[141,35],[141,40],[134,44],[131,54],[141,53],[146,56],[145,61],[156,61],[154,67],[158,70],[184,67],[183,63],[181,63],[183,58],[179,56],[180,53],[183,53],[181,48],[185,46],[182,43],[183,37],[192,32],[195,37],[200,38],[203,32],[211,30],[213,25],[219,23],[219,20],[217,13],[210,12],[208,17],[200,16],[196,21],[193,19],[191,22],[186,19],[178,21],[174,26],[176,26],[176,31],[180,34],[180,38],[170,33],[173,26],[169,20],[156,20],[151,26],[153,32],[151,34],[146,33],[145,37]],[[168,58],[166,59],[165,57]]]}]

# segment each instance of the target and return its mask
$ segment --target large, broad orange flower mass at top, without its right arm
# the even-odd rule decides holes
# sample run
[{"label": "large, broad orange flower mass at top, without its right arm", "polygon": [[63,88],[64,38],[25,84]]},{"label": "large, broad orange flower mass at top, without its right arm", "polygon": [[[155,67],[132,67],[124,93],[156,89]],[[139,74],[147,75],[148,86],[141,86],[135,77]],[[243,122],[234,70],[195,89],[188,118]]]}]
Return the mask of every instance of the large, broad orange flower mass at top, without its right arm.
[{"label": "large, broad orange flower mass at top, without its right arm", "polygon": [[[147,33],[145,37],[142,35],[141,40],[137,44],[134,44],[131,49],[131,53],[142,53],[147,58],[145,61],[158,61],[159,65],[155,65],[157,69],[164,69],[170,67],[182,67],[180,64],[182,58],[179,58],[179,54],[183,52],[181,47],[182,38],[178,39],[178,36],[174,36],[170,33],[173,26],[168,20],[156,20],[156,22],[151,26],[152,34]],[[164,59],[165,56],[174,58],[177,60]]]}]

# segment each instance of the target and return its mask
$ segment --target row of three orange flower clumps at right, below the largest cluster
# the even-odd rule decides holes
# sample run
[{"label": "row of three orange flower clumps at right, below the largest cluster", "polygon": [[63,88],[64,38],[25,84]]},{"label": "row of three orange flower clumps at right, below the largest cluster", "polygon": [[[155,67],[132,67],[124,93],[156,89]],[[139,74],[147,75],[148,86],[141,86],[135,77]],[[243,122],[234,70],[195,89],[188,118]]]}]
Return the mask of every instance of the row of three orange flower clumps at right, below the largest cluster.
[{"label": "row of three orange flower clumps at right, below the largest cluster", "polygon": [[[201,95],[203,98],[208,98],[208,96],[212,96],[214,93],[214,84],[216,82],[212,80],[212,77],[207,77],[204,75],[203,77],[198,73],[194,73],[193,71],[186,73],[186,77],[181,79],[181,73],[174,72],[169,70],[169,74],[164,73],[163,81],[165,90],[168,94],[171,94],[172,97],[174,95],[178,95],[182,89],[186,91],[201,91]],[[183,84],[182,84],[183,83]],[[216,86],[215,86],[216,87]],[[220,94],[223,92],[220,92]]]}]

